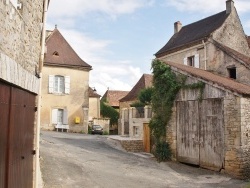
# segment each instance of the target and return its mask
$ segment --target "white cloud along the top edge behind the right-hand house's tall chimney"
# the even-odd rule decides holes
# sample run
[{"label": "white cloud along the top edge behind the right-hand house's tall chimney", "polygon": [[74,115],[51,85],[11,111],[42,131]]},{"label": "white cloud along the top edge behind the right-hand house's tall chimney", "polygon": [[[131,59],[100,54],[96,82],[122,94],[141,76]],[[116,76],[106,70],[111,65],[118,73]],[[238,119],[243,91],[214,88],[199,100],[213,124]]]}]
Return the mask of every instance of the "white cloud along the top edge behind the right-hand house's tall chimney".
[{"label": "white cloud along the top edge behind the right-hand house's tall chimney", "polygon": [[[250,10],[249,0],[237,0],[235,7],[240,12],[247,12]],[[173,6],[179,11],[188,12],[219,12],[226,9],[226,1],[219,0],[166,0],[168,6]]]}]

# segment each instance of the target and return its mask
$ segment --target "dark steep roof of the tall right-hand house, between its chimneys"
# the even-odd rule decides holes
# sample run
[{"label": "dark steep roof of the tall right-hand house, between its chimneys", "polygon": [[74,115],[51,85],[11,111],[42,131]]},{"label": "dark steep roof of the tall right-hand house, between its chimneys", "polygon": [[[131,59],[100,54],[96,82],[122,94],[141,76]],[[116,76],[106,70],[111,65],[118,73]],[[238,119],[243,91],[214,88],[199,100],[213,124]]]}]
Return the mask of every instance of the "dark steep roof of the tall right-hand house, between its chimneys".
[{"label": "dark steep roof of the tall right-hand house, between its chimneys", "polygon": [[210,36],[218,29],[226,20],[228,14],[226,11],[220,12],[213,16],[183,26],[182,29],[175,33],[167,44],[161,48],[156,54],[156,57],[161,57],[164,53],[177,49],[179,47],[201,41]]}]

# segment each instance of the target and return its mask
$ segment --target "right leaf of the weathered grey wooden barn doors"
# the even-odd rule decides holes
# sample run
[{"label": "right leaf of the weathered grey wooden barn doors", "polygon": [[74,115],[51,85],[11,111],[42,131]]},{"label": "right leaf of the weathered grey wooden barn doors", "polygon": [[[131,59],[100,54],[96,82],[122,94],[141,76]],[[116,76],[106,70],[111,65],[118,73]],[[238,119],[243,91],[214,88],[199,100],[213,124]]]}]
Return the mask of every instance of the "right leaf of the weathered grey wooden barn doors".
[{"label": "right leaf of the weathered grey wooden barn doors", "polygon": [[224,166],[222,99],[203,100],[200,105],[200,166],[220,170]]}]

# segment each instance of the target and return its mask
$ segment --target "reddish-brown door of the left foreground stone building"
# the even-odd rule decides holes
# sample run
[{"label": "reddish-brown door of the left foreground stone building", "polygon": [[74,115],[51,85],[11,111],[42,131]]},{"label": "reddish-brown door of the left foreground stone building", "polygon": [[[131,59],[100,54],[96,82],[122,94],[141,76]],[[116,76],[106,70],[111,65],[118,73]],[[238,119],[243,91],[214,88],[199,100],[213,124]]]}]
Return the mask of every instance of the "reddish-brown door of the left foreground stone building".
[{"label": "reddish-brown door of the left foreground stone building", "polygon": [[35,98],[0,82],[0,188],[33,187]]}]

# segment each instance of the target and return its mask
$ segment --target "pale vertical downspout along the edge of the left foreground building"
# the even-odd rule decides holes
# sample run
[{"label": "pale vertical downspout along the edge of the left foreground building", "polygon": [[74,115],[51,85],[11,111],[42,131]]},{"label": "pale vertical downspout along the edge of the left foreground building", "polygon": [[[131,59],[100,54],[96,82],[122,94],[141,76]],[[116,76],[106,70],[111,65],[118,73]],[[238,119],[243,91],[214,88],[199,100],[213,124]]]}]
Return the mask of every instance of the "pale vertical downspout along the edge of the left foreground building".
[{"label": "pale vertical downspout along the edge of the left foreground building", "polygon": [[38,91],[38,100],[37,100],[37,127],[36,127],[36,179],[35,179],[35,188],[38,188],[38,180],[40,175],[40,128],[41,128],[41,100],[42,100],[42,69],[43,69],[43,61],[44,61],[44,52],[45,52],[45,24],[47,20],[47,11],[48,11],[48,0],[44,0],[43,7],[43,27],[42,27],[42,39],[41,39],[41,54],[39,61],[39,91]]}]

